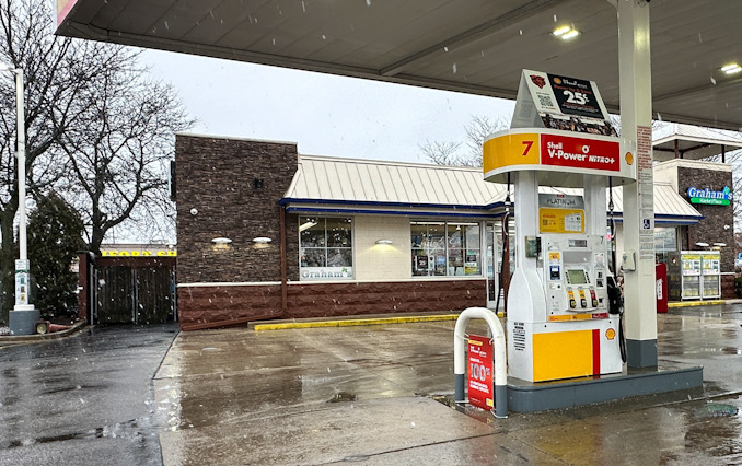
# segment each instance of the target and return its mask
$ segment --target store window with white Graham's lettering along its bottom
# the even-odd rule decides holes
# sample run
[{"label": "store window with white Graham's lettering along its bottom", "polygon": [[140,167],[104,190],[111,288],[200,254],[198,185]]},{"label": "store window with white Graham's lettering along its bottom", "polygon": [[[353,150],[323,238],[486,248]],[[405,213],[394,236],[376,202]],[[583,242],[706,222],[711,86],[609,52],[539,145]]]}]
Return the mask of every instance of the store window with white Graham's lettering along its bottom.
[{"label": "store window with white Graham's lettering along its bottom", "polygon": [[351,226],[350,218],[299,218],[299,277],[302,280],[353,277]]}]

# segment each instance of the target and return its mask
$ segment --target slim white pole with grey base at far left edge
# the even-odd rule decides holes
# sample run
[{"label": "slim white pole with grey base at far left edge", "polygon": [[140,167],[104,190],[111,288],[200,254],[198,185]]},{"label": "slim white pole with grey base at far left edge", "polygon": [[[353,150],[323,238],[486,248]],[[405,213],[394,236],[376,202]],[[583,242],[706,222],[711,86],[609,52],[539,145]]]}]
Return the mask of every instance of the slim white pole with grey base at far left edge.
[{"label": "slim white pole with grey base at far left edge", "polygon": [[15,260],[15,306],[10,312],[9,325],[13,335],[34,333],[38,311],[28,302],[28,251],[26,246],[26,131],[23,109],[23,69],[0,62],[0,71],[15,74],[15,125],[18,152],[18,214],[19,259]]}]

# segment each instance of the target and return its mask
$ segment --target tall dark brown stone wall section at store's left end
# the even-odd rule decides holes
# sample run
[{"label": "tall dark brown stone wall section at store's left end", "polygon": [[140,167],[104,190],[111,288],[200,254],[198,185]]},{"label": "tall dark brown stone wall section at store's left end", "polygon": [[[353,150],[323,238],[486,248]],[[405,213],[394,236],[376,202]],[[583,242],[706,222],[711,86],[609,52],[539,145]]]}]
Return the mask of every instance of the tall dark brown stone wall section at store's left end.
[{"label": "tall dark brown stone wall section at store's left end", "polygon": [[[297,171],[297,145],[177,135],[175,163],[178,282],[280,281],[278,201]],[[294,215],[287,215],[287,231],[293,278],[299,273]],[[254,244],[257,236],[273,242]],[[215,237],[232,243],[216,248]]]}]

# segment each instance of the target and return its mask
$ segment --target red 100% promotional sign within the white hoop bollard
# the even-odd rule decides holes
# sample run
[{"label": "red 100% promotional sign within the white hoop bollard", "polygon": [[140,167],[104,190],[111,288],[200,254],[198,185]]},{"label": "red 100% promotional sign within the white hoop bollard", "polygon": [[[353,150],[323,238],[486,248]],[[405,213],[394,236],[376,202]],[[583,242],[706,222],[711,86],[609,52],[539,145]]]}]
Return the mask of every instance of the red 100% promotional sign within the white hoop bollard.
[{"label": "red 100% promotional sign within the white hoop bollard", "polygon": [[468,337],[468,403],[489,411],[495,406],[492,387],[492,340],[489,337]]}]

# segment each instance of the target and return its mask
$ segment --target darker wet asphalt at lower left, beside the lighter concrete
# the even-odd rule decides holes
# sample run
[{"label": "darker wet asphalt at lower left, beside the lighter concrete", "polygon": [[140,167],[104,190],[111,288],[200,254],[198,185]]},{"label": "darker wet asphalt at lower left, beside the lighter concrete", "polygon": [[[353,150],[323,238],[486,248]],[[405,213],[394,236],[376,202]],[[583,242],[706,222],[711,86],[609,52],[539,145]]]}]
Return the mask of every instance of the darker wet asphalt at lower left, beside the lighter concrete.
[{"label": "darker wet asphalt at lower left, beside the lighter concrete", "polygon": [[0,349],[0,464],[162,464],[152,377],[177,328],[95,327]]}]

